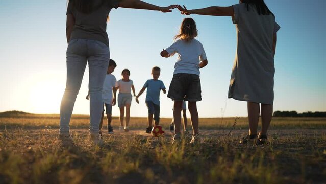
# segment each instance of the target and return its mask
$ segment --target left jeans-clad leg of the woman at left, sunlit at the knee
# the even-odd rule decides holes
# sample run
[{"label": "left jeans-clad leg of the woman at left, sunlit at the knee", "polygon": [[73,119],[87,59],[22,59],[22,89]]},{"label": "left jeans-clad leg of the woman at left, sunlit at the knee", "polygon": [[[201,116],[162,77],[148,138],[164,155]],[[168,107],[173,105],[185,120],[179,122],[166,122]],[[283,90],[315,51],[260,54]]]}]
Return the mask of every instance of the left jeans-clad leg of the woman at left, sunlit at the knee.
[{"label": "left jeans-clad leg of the woman at left, sunlit at the knee", "polygon": [[67,48],[67,81],[60,106],[60,134],[69,134],[74,102],[81,87],[87,64],[87,57],[77,52],[80,47],[82,47],[82,43],[77,41],[68,45]]}]

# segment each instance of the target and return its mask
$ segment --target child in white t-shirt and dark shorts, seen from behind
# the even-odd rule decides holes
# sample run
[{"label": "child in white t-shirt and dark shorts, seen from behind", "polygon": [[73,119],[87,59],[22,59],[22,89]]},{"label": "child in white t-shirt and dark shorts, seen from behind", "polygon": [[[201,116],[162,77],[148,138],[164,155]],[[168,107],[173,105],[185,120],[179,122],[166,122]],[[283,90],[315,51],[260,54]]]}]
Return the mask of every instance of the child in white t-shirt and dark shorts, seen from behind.
[{"label": "child in white t-shirt and dark shorts, seen from behind", "polygon": [[208,61],[202,43],[195,39],[198,35],[196,23],[192,18],[185,18],[180,27],[180,33],[175,36],[175,41],[166,50],[161,52],[162,57],[170,57],[178,53],[178,61],[174,65],[173,78],[167,97],[174,100],[173,142],[180,141],[180,124],[182,101],[188,101],[188,109],[192,123],[192,139],[190,143],[197,141],[198,135],[198,111],[197,101],[202,100],[199,68],[207,65]]}]

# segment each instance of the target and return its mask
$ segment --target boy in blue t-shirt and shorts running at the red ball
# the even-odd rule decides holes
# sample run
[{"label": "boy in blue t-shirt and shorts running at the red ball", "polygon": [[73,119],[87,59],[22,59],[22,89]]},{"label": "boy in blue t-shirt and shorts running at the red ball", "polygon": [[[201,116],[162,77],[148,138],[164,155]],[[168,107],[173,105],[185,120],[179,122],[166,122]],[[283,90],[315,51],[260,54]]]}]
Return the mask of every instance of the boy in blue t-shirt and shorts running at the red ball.
[{"label": "boy in blue t-shirt and shorts running at the red ball", "polygon": [[144,84],[144,87],[139,91],[136,96],[136,102],[139,103],[139,96],[144,93],[147,88],[146,93],[146,105],[148,108],[148,127],[146,128],[146,133],[151,133],[152,130],[152,121],[153,115],[155,120],[155,125],[159,125],[160,122],[160,91],[163,90],[163,93],[166,93],[165,86],[161,80],[158,80],[160,77],[161,69],[157,66],[152,68],[153,79],[149,79]]}]

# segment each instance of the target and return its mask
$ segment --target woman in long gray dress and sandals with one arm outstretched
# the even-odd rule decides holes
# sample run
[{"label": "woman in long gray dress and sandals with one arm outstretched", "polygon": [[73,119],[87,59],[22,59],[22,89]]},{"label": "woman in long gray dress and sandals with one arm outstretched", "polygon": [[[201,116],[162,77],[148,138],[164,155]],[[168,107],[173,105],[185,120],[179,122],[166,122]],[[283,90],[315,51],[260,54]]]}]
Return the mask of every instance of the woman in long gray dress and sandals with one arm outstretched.
[{"label": "woman in long gray dress and sandals with one arm outstretched", "polygon": [[[182,14],[231,16],[237,30],[237,52],[229,86],[229,98],[247,101],[249,133],[240,143],[263,144],[273,113],[274,55],[280,26],[263,0],[240,0],[229,7],[207,7]],[[261,108],[260,108],[261,104]],[[257,134],[259,113],[262,127]]]}]

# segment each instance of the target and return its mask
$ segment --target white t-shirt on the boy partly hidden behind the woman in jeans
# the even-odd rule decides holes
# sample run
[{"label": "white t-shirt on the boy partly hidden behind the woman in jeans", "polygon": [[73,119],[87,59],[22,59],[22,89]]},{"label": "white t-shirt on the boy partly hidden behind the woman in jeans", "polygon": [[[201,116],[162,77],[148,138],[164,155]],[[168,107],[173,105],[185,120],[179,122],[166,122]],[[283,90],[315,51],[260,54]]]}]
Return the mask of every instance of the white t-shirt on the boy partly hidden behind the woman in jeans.
[{"label": "white t-shirt on the boy partly hidden behind the woman in jeans", "polygon": [[103,103],[112,104],[112,88],[115,87],[117,82],[116,78],[112,74],[107,74],[104,79],[102,98]]}]

